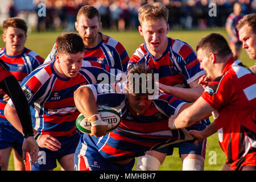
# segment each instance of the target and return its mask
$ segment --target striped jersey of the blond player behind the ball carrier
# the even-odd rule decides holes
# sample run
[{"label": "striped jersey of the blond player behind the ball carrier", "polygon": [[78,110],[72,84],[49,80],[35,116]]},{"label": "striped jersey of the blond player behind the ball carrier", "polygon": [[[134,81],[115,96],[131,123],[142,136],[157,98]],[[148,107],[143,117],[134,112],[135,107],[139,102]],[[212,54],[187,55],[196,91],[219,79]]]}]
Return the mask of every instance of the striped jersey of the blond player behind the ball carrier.
[{"label": "striped jersey of the blond player behind the ball carrier", "polygon": [[147,50],[146,43],[142,44],[131,56],[127,72],[137,64],[145,64],[154,73],[159,73],[159,82],[165,85],[190,84],[205,71],[200,69],[196,53],[185,42],[168,38],[166,51],[159,59],[154,59]]}]

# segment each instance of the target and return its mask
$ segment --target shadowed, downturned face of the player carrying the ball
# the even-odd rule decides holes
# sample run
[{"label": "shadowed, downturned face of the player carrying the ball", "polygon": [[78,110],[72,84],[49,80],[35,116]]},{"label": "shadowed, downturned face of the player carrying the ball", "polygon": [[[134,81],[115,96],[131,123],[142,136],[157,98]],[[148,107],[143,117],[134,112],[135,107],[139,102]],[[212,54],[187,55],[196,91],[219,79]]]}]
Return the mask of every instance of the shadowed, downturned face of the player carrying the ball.
[{"label": "shadowed, downturned face of the player carrying the ball", "polygon": [[127,94],[127,102],[131,110],[137,115],[142,115],[150,107],[152,100],[148,100],[148,96],[134,96],[133,94]]}]

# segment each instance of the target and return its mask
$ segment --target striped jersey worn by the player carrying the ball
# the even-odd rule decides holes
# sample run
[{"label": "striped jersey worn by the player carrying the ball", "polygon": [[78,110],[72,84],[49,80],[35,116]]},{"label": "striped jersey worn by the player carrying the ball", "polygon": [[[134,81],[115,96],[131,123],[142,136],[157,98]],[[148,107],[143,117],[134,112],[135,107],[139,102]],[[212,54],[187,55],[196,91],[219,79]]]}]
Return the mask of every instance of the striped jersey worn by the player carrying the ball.
[{"label": "striped jersey worn by the player carrying the ball", "polygon": [[97,105],[109,106],[119,112],[121,123],[104,137],[84,134],[81,141],[85,145],[81,148],[81,155],[85,154],[86,148],[93,147],[105,159],[120,161],[142,156],[145,151],[162,148],[187,138],[187,130],[170,130],[168,127],[170,115],[178,114],[180,107],[186,102],[168,94],[160,94],[152,100],[146,113],[137,115],[127,105],[123,85],[85,85],[93,90]]}]

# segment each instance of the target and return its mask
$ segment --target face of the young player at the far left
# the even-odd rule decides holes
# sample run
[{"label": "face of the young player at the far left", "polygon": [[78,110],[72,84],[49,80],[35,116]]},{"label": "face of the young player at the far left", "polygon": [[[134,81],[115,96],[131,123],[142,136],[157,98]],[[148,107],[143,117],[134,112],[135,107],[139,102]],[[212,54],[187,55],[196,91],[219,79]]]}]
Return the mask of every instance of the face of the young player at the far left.
[{"label": "face of the young player at the far left", "polygon": [[23,52],[27,40],[26,32],[24,30],[8,27],[2,36],[3,42],[5,42],[7,55],[17,56]]}]

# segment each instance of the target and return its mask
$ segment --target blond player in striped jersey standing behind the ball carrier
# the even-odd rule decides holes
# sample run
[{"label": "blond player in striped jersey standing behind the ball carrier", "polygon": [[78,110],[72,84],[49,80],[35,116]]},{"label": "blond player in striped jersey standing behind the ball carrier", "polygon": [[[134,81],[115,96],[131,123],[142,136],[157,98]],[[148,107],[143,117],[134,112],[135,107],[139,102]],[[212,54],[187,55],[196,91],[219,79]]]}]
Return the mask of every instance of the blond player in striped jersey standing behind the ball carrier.
[{"label": "blond player in striped jersey standing behind the ball carrier", "polygon": [[[139,33],[143,36],[143,43],[131,56],[127,70],[137,64],[147,65],[154,73],[159,74],[160,91],[172,94],[184,101],[194,102],[203,93],[203,87],[198,84],[205,71],[200,69],[196,53],[185,42],[168,38],[169,31],[168,9],[162,3],[152,3],[139,8]],[[185,85],[181,88],[177,85]],[[187,128],[203,130],[210,123],[209,119],[195,123]],[[206,150],[206,140],[199,146],[193,143],[178,143],[170,146],[170,155],[174,147],[179,148],[179,154],[183,163],[183,170],[203,170]],[[139,157],[137,170],[151,168],[158,170],[160,165],[149,167],[152,162],[163,163],[166,155],[158,151],[148,151],[145,156]],[[149,162],[144,163],[143,161]],[[158,164],[159,164],[158,162]]]}]

